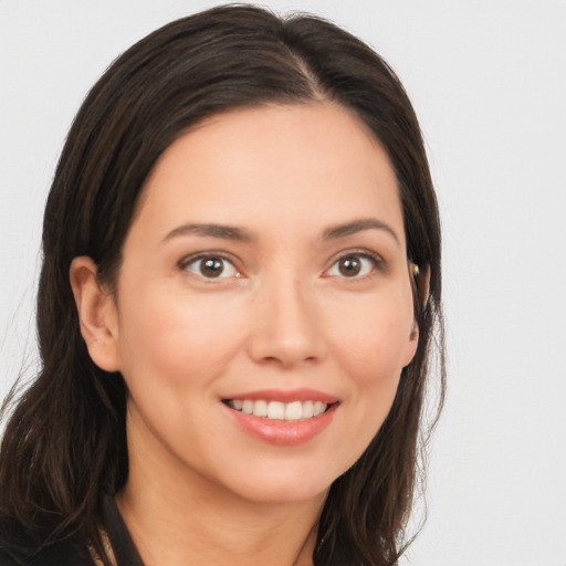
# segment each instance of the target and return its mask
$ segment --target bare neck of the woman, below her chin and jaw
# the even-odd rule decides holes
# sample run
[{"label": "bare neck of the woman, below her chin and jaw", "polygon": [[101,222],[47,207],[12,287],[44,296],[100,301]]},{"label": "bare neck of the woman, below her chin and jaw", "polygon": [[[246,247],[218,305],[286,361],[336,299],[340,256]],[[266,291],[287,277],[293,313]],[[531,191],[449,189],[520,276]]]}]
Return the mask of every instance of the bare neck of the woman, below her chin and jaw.
[{"label": "bare neck of the woman, below her chin and jaw", "polygon": [[117,495],[145,566],[313,565],[325,493],[298,502],[249,501],[163,461],[130,453],[128,481]]}]

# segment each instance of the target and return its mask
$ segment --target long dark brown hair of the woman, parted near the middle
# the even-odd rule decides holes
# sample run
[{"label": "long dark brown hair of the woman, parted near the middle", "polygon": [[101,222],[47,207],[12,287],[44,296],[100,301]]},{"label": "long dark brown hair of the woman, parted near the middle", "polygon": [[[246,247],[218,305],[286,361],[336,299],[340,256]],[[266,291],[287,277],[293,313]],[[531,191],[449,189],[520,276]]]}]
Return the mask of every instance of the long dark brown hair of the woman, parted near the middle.
[{"label": "long dark brown hair of the woman, parted near the middle", "polygon": [[420,265],[413,276],[417,354],[378,434],[331,488],[314,563],[397,560],[418,480],[434,342],[439,407],[444,390],[440,227],[421,133],[399,80],[358,39],[312,15],[281,19],[251,6],[218,7],[139,41],[96,83],[69,133],[43,224],[42,369],[15,403],[1,447],[0,522],[24,532],[32,552],[73,537],[109,564],[101,494],[119,491],[128,475],[126,387],[88,356],[71,261],[88,255],[102,282],[115,282],[144,181],[190,127],[233,108],[310,101],[340,104],[380,140],[397,175],[407,255]]}]

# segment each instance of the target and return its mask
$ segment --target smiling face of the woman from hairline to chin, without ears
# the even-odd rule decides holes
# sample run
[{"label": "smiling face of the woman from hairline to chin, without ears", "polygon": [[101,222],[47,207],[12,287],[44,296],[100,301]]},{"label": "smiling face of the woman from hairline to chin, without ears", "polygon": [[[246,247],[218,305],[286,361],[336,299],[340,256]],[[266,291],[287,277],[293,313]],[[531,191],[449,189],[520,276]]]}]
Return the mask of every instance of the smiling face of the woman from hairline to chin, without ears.
[{"label": "smiling face of the woman from hairline to chin, without ears", "polygon": [[147,180],[115,308],[133,472],[319,496],[378,431],[417,345],[386,153],[331,103],[185,134]]}]

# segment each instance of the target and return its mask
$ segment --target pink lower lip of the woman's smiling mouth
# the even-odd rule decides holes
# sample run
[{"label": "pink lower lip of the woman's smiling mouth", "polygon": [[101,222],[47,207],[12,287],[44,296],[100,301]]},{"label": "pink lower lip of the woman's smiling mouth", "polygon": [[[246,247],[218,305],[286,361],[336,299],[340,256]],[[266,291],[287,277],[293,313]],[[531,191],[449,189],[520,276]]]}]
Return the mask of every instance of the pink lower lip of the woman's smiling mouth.
[{"label": "pink lower lip of the woman's smiling mouth", "polygon": [[253,415],[245,415],[224,405],[237,424],[252,437],[270,444],[296,447],[308,442],[319,434],[334,418],[338,403],[332,405],[318,417],[304,420],[269,420]]}]

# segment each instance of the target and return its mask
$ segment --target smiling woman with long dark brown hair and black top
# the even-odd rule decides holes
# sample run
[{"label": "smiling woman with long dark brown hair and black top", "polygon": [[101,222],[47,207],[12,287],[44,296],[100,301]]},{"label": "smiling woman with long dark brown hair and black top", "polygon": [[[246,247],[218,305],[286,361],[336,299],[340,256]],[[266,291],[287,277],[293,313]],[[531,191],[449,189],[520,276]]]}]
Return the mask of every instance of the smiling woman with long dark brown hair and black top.
[{"label": "smiling woman with long dark brown hair and black top", "polygon": [[369,48],[253,7],[154,32],[78,112],[43,254],[0,564],[397,562],[440,232]]}]

